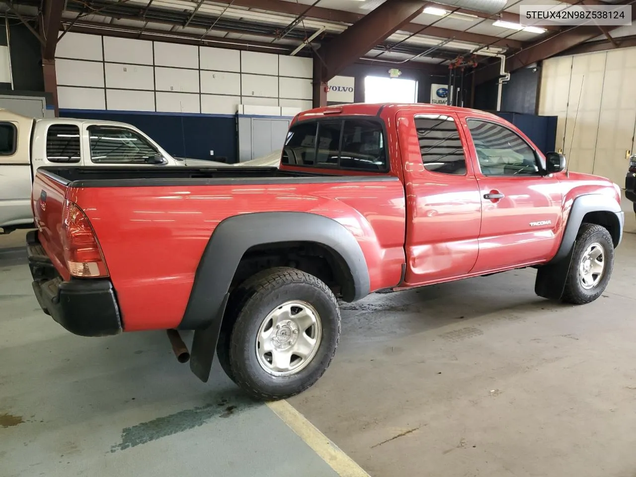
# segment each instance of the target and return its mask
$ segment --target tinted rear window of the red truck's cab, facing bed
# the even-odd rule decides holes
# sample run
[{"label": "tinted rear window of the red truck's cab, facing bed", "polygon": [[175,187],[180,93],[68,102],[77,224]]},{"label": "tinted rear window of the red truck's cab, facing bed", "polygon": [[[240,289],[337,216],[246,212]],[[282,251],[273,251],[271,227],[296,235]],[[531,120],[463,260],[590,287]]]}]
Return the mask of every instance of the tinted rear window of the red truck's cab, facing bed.
[{"label": "tinted rear window of the red truck's cab, facing bed", "polygon": [[289,129],[282,163],[385,172],[385,144],[382,123],[375,119],[303,121]]}]

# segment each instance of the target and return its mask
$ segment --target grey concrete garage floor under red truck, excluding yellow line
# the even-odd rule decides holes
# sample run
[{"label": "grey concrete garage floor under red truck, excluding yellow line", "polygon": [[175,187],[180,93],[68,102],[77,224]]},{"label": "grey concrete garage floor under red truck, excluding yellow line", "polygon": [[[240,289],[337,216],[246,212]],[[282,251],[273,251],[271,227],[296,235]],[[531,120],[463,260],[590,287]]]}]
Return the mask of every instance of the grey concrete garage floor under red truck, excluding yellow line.
[{"label": "grey concrete garage floor under red truck, excluding yellow line", "polygon": [[[583,307],[537,298],[534,270],[345,305],[331,368],[289,402],[373,477],[633,477],[635,259],[626,234]],[[0,263],[0,476],[334,475],[162,333],[66,333],[20,261]]]}]

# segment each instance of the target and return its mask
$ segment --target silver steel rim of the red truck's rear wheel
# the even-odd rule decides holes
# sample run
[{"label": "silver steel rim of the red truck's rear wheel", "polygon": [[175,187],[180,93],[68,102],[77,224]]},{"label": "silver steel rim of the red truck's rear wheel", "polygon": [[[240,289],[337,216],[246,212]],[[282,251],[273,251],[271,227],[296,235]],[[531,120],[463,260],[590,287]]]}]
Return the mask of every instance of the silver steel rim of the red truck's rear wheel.
[{"label": "silver steel rim of the red truck's rear wheel", "polygon": [[306,301],[286,301],[261,322],[256,357],[263,370],[277,377],[299,373],[314,359],[322,340],[320,315]]}]

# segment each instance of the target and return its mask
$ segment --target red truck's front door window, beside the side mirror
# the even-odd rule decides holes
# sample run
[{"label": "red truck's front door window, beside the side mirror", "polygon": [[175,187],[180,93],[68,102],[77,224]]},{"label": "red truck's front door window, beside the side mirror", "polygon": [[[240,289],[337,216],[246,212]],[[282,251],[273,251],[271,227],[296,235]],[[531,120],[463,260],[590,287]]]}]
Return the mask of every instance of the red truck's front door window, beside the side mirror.
[{"label": "red truck's front door window, beside the side mirror", "polygon": [[520,135],[499,124],[468,120],[484,176],[538,176],[536,153]]}]

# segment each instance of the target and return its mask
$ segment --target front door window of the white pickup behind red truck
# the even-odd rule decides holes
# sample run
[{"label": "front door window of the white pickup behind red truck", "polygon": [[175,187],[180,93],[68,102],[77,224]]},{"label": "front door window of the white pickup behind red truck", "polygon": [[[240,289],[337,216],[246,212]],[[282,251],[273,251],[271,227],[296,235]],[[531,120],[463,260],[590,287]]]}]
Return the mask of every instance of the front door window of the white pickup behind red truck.
[{"label": "front door window of the white pickup behind red truck", "polygon": [[97,163],[166,163],[141,134],[130,129],[91,126],[90,158]]}]

